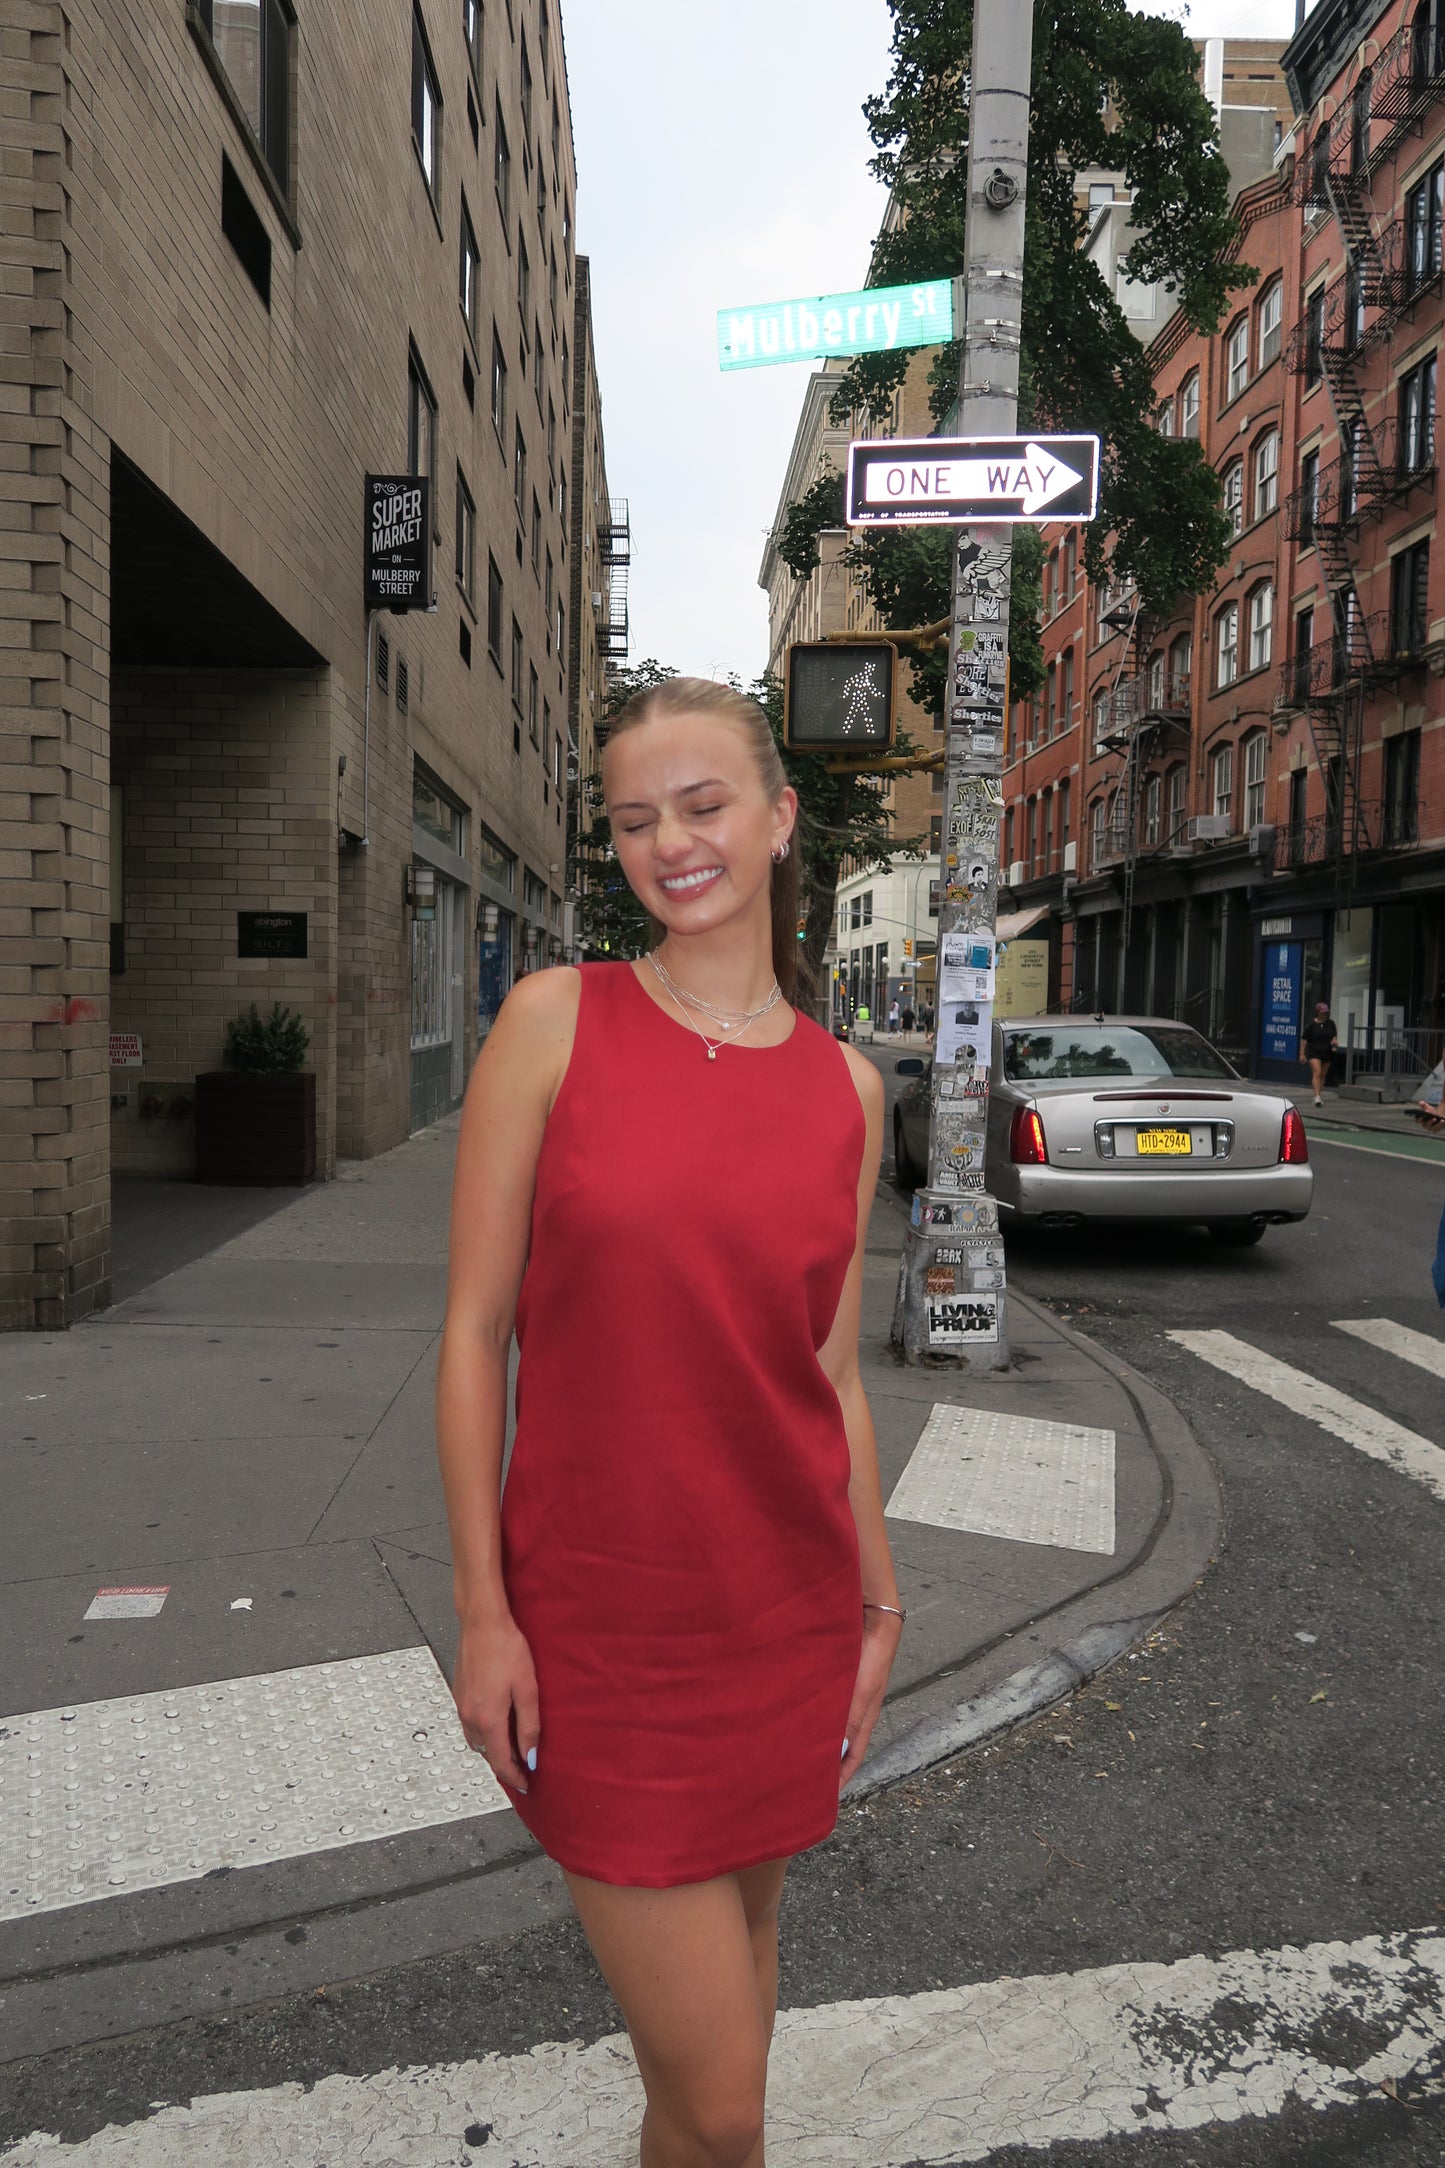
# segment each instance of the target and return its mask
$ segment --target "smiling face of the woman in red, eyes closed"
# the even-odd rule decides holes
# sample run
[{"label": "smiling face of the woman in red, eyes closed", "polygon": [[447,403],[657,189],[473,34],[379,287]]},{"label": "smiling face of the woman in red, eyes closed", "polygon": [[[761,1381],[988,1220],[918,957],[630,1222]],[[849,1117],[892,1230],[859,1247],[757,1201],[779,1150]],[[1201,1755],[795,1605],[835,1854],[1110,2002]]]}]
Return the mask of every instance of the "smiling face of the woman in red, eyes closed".
[{"label": "smiling face of the woman in red, eyes closed", "polygon": [[743,731],[721,715],[656,715],[602,754],[617,861],[667,932],[711,932],[767,895],[797,793],[771,804]]}]

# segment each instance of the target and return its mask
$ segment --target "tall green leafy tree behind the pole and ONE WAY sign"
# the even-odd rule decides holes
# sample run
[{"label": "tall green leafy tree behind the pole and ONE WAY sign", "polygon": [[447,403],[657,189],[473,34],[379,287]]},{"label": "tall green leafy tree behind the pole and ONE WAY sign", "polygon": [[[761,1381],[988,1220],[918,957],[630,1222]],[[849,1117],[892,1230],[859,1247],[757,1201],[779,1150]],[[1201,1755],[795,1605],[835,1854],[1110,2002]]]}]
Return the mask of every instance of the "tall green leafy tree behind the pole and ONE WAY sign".
[{"label": "tall green leafy tree behind the pole and ONE WAY sign", "polygon": [[[942,278],[964,262],[973,50],[973,0],[888,4],[893,74],[864,104],[871,165],[899,212],[873,251],[871,282],[880,286]],[[1036,0],[1029,145],[1018,427],[1103,438],[1085,566],[1098,579],[1107,551],[1114,579],[1135,581],[1144,611],[1166,616],[1181,594],[1211,585],[1228,555],[1228,520],[1198,442],[1155,429],[1146,349],[1081,249],[1085,215],[1075,202],[1075,173],[1122,169],[1135,228],[1122,271],[1157,280],[1192,327],[1213,332],[1228,297],[1257,273],[1235,260],[1239,228],[1213,108],[1198,85],[1198,52],[1179,24],[1135,15],[1127,0]],[[958,358],[958,345],[934,353],[936,421],[955,403]],[[882,421],[910,360],[906,351],[858,356],[838,379],[832,421],[856,412]],[[799,579],[817,564],[817,535],[841,525],[843,483],[825,475],[789,507],[780,529],[780,551]],[[1014,546],[1018,579],[1029,546],[1038,566],[1038,535],[1016,529]],[[942,579],[929,583],[929,540],[912,531],[880,531],[849,551],[875,601],[888,583],[884,566],[893,564],[893,585],[908,590],[908,607],[923,609],[927,596],[929,614],[942,616],[947,544],[936,555]],[[1033,616],[1016,588],[1016,694],[1038,683]]]}]

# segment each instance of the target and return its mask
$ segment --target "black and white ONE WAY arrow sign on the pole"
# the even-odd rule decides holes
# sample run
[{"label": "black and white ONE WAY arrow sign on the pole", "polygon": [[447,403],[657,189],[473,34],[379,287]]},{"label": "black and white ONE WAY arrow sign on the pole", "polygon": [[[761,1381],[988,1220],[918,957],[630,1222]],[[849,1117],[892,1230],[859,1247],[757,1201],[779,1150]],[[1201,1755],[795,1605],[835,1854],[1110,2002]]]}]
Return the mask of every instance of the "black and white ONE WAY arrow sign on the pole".
[{"label": "black and white ONE WAY arrow sign on the pole", "polygon": [[847,525],[1092,520],[1096,436],[864,438],[847,447]]}]

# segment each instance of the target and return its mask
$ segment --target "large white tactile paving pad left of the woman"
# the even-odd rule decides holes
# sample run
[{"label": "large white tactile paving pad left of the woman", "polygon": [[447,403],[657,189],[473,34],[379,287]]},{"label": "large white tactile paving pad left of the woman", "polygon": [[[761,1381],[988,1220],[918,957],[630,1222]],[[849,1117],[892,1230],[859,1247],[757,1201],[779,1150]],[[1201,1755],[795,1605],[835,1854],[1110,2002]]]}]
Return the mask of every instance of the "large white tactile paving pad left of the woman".
[{"label": "large white tactile paving pad left of the woman", "polygon": [[0,1919],[507,1806],[429,1648],[0,1717]]}]

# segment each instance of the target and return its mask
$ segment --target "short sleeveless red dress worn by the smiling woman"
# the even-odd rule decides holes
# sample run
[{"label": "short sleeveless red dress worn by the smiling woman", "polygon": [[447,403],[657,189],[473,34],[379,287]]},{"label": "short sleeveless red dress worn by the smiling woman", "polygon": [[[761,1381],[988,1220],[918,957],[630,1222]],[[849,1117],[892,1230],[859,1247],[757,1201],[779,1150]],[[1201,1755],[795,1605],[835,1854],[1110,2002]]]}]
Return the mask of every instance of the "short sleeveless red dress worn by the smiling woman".
[{"label": "short sleeveless red dress worn by the smiling woman", "polygon": [[542,1732],[507,1797],[561,1867],[667,1888],[838,1819],[862,1583],[817,1351],[864,1119],[808,1017],[708,1060],[630,965],[581,978],[516,1320],[503,1580]]}]

